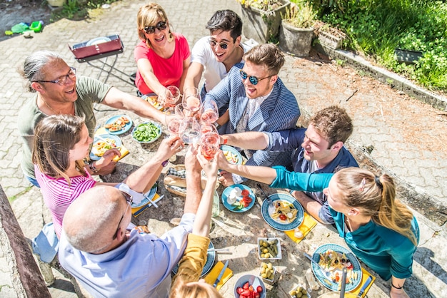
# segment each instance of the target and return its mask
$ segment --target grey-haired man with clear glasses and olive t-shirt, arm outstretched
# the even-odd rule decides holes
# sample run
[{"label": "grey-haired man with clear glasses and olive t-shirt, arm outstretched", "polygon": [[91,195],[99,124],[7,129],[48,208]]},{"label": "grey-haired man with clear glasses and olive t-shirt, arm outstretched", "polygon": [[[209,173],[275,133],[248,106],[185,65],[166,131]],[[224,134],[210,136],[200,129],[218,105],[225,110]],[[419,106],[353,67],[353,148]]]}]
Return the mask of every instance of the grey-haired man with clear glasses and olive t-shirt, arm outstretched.
[{"label": "grey-haired man with clear glasses and olive t-shirt, arm outstretched", "polygon": [[[18,121],[19,133],[24,140],[21,168],[33,185],[39,186],[31,161],[34,126],[46,116],[57,114],[85,116],[91,137],[96,127],[94,103],[126,109],[142,117],[164,123],[164,114],[141,98],[119,91],[94,78],[76,76],[76,68],[68,66],[58,53],[52,51],[32,53],[26,58],[21,75],[26,80],[27,90],[36,93],[23,104]],[[115,164],[112,162],[96,173],[92,163],[91,174],[110,173]]]}]

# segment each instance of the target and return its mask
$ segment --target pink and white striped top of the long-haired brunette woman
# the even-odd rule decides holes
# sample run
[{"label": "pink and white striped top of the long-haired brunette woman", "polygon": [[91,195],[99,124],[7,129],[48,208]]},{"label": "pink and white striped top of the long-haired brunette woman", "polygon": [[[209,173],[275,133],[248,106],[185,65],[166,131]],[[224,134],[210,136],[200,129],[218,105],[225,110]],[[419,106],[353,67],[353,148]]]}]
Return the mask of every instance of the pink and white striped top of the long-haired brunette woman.
[{"label": "pink and white striped top of the long-haired brunette woman", "polygon": [[83,175],[71,177],[70,186],[65,178],[54,179],[49,175],[41,173],[37,165],[34,165],[34,172],[36,173],[36,180],[41,187],[45,205],[51,211],[51,215],[53,215],[54,231],[58,237],[61,237],[62,219],[67,208],[82,192],[94,187],[96,181],[91,178],[87,170],[87,177]]}]

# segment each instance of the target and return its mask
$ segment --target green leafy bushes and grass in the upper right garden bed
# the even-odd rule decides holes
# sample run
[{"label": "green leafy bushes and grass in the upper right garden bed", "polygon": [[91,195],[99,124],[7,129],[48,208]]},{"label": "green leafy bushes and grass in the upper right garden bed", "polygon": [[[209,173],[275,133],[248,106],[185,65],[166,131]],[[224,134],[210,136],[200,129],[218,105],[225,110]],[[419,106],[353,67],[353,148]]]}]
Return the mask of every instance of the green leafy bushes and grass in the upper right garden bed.
[{"label": "green leafy bushes and grass in the upper right garden bed", "polygon": [[[296,0],[292,0],[296,1]],[[300,1],[300,0],[298,0]],[[306,1],[306,0],[302,0]],[[431,89],[447,91],[447,4],[435,0],[307,0],[318,19],[344,31],[347,46]],[[399,64],[395,48],[422,51]]]}]

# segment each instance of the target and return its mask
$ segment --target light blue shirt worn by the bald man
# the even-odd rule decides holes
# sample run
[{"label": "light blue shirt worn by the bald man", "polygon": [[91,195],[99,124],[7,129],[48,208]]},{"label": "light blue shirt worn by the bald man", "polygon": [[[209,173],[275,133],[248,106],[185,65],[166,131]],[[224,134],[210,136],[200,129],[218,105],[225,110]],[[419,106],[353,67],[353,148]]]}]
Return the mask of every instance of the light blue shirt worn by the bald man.
[{"label": "light blue shirt worn by the bald man", "polygon": [[59,262],[94,297],[165,298],[195,217],[184,214],[180,225],[161,237],[132,229],[123,245],[100,255],[76,250],[63,232]]}]

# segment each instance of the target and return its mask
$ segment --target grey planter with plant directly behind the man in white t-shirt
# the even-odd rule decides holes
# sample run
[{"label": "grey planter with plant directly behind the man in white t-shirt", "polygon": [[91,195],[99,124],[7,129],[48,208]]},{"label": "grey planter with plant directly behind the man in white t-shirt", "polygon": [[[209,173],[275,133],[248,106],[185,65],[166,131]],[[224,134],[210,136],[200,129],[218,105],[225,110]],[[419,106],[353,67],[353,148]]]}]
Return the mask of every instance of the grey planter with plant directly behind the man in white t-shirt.
[{"label": "grey planter with plant directly behind the man in white t-shirt", "polygon": [[290,6],[289,0],[238,0],[241,4],[242,33],[258,43],[276,38],[281,14]]}]

